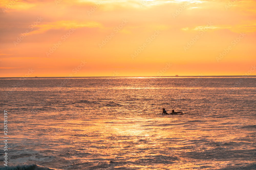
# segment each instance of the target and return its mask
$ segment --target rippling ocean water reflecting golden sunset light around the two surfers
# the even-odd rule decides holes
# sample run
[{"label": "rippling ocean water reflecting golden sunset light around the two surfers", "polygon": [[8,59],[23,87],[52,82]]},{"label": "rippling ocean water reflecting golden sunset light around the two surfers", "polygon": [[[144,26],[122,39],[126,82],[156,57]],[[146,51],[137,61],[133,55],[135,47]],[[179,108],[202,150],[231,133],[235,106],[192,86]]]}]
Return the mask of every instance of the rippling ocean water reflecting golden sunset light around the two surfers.
[{"label": "rippling ocean water reflecting golden sunset light around the two surfers", "polygon": [[256,169],[256,76],[0,78],[0,98],[0,169]]}]

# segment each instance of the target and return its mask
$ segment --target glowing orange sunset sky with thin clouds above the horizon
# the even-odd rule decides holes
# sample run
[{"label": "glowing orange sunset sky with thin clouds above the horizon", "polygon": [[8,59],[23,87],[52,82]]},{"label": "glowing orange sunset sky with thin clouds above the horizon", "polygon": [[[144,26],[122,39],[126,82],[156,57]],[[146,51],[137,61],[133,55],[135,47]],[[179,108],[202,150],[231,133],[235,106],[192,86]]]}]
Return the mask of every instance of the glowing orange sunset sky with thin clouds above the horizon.
[{"label": "glowing orange sunset sky with thin clouds above the horizon", "polygon": [[256,2],[2,0],[0,77],[256,75]]}]

